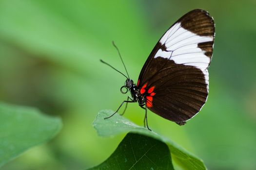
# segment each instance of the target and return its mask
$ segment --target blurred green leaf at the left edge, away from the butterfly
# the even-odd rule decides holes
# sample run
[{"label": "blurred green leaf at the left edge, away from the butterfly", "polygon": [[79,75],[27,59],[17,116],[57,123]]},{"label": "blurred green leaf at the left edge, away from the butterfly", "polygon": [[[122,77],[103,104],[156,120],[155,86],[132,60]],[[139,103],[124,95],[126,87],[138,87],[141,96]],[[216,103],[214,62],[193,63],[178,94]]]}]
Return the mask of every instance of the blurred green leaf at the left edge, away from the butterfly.
[{"label": "blurred green leaf at the left edge, away from the butterfly", "polygon": [[53,138],[61,120],[39,110],[0,103],[0,167],[29,148]]}]

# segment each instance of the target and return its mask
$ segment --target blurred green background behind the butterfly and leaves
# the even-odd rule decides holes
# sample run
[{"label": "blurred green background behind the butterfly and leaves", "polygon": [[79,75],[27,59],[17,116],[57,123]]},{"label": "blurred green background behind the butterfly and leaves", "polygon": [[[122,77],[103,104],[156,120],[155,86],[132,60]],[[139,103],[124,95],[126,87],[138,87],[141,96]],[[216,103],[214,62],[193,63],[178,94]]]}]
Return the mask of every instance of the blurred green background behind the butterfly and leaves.
[{"label": "blurred green background behind the butterfly and leaves", "polygon": [[[0,0],[0,100],[63,119],[54,140],[2,169],[78,170],[105,160],[124,135],[98,137],[92,122],[127,95],[124,77],[99,59],[124,70],[115,40],[137,82],[160,36],[196,8],[216,22],[208,101],[185,126],[152,112],[149,125],[210,170],[255,170],[255,0]],[[143,125],[144,111],[130,104],[125,117]]]}]

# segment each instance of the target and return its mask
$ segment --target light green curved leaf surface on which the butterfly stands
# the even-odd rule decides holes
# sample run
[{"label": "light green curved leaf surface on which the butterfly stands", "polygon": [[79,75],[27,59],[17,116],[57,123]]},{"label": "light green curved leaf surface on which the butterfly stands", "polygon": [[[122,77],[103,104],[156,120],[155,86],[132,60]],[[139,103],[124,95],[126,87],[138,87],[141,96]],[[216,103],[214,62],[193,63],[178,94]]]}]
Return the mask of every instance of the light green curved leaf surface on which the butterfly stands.
[{"label": "light green curved leaf surface on which the butterfly stands", "polygon": [[[135,123],[118,114],[114,115],[110,119],[104,119],[113,113],[114,112],[112,110],[99,111],[96,119],[93,122],[94,128],[97,130],[99,136],[115,136],[117,134],[127,132],[148,136],[157,139],[163,143],[166,143],[172,155],[173,162],[175,162],[182,169],[206,170],[206,167],[201,159],[197,158],[192,153],[189,153],[185,149],[181,148],[172,140],[164,136],[160,136],[154,131],[149,131],[144,127],[138,126]],[[139,147],[142,148],[143,146]]]}]

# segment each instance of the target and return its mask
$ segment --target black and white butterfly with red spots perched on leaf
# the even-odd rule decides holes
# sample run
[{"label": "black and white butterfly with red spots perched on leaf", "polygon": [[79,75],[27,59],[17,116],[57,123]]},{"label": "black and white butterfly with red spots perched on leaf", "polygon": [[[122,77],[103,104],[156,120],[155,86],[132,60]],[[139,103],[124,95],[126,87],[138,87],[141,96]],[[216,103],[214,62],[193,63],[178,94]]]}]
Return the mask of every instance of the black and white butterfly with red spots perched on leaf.
[{"label": "black and white butterfly with red spots perched on leaf", "polygon": [[196,9],[179,18],[150,53],[137,85],[129,78],[126,68],[128,77],[120,72],[127,78],[121,92],[131,92],[131,97],[122,102],[126,102],[125,109],[128,102],[138,102],[146,110],[144,126],[146,123],[148,129],[147,109],[179,125],[193,118],[208,97],[207,68],[214,38],[215,24],[208,12]]}]

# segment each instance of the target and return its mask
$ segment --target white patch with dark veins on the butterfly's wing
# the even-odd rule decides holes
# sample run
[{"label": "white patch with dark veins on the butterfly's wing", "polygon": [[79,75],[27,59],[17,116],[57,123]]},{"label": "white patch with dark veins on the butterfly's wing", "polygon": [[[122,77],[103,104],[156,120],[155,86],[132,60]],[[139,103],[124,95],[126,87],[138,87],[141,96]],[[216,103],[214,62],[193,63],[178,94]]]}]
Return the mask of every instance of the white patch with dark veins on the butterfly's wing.
[{"label": "white patch with dark veins on the butterfly's wing", "polygon": [[159,49],[154,56],[170,58],[176,64],[183,64],[187,66],[195,66],[199,68],[204,76],[205,83],[209,84],[208,66],[211,62],[211,58],[205,55],[205,51],[202,51],[197,47],[198,43],[213,41],[213,36],[200,36],[189,30],[181,27],[180,23],[173,25],[160,39],[160,43],[165,45],[166,51]]}]

